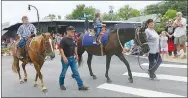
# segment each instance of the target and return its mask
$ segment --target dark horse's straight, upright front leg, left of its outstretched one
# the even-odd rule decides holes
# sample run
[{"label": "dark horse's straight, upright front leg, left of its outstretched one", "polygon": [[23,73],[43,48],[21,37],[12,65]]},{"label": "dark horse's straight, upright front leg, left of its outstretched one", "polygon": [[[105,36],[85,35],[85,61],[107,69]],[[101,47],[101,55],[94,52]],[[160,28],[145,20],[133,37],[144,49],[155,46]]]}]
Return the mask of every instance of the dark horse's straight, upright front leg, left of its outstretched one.
[{"label": "dark horse's straight, upright front leg, left of its outstretched one", "polygon": [[111,61],[112,56],[106,55],[106,73],[105,77],[107,78],[107,82],[111,83],[112,80],[108,77],[108,70],[110,68],[110,61]]}]

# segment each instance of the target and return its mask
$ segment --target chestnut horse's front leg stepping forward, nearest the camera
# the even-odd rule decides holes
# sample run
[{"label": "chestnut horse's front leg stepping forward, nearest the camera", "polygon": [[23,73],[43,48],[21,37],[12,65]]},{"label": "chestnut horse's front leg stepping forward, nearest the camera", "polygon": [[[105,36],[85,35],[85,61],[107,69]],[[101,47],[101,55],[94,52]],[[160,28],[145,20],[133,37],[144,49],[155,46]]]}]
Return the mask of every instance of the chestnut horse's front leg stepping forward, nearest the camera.
[{"label": "chestnut horse's front leg stepping forward, nearest the camera", "polygon": [[[36,62],[33,62],[33,63],[34,63],[34,66],[35,66],[35,70],[37,71],[38,77],[39,77],[39,79],[41,81],[42,91],[43,92],[47,92],[48,90],[47,90],[47,88],[44,85],[43,76],[42,76],[42,73],[40,72],[41,66],[38,63],[36,63]],[[37,75],[36,75],[36,78],[37,78]]]}]

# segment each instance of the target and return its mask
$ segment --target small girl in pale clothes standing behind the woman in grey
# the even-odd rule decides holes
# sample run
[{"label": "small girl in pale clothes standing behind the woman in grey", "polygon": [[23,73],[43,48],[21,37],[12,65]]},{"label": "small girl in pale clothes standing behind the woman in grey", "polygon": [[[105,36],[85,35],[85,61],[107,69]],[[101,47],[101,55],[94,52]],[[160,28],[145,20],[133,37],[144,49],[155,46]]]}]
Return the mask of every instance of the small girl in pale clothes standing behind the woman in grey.
[{"label": "small girl in pale clothes standing behind the woman in grey", "polygon": [[167,43],[168,37],[166,36],[166,31],[162,31],[160,35],[160,48],[161,48],[161,54],[162,58],[168,56],[168,43]]}]

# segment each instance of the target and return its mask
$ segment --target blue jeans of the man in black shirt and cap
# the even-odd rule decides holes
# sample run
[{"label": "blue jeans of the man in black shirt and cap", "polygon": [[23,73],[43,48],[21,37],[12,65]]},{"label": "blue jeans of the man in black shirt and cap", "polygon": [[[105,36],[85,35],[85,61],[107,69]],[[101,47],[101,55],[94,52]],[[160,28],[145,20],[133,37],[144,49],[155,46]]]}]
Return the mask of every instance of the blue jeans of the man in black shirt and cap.
[{"label": "blue jeans of the man in black shirt and cap", "polygon": [[70,57],[70,58],[67,58],[67,59],[68,59],[68,64],[65,64],[64,61],[61,60],[63,69],[62,69],[62,72],[61,72],[60,77],[59,77],[59,85],[64,85],[65,74],[66,74],[68,67],[70,66],[72,73],[74,75],[74,78],[76,79],[76,82],[78,84],[78,87],[82,87],[83,81],[81,80],[80,75],[78,73],[78,68],[77,68],[77,65],[76,65],[75,58]]}]

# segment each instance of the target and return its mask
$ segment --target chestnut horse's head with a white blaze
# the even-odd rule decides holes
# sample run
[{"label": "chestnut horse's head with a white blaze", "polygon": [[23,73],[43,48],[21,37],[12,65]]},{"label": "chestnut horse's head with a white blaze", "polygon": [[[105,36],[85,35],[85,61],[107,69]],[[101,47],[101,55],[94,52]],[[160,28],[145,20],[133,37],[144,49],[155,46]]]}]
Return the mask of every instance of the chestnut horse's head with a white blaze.
[{"label": "chestnut horse's head with a white blaze", "polygon": [[50,56],[51,59],[55,57],[55,43],[51,33],[42,33],[43,36],[43,50],[45,56]]}]

